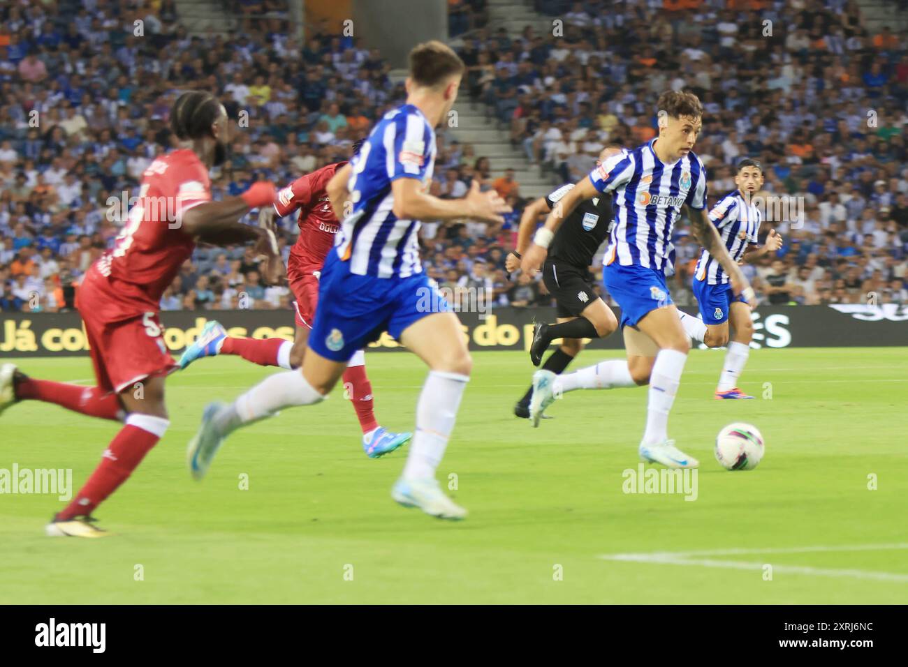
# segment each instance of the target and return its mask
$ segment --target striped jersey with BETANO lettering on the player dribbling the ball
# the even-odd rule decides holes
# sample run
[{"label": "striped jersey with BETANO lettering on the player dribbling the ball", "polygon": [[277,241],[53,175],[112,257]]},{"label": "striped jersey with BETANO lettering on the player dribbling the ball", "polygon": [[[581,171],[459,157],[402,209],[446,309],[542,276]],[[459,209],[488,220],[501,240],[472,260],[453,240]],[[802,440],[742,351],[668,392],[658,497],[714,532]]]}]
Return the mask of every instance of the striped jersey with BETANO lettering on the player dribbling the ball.
[{"label": "striped jersey with BETANO lettering on the player dribbling the ball", "polygon": [[608,158],[589,174],[600,192],[614,192],[615,228],[604,264],[617,260],[665,270],[681,207],[706,208],[706,167],[694,152],[666,164],[653,139]]}]

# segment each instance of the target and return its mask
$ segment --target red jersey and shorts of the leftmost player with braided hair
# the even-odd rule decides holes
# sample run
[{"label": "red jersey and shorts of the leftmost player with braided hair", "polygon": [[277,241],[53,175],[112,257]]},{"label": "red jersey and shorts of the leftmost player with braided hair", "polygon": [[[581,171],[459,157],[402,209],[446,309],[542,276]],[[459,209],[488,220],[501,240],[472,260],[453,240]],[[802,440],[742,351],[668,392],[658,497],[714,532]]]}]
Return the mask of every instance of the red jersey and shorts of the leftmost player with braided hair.
[{"label": "red jersey and shorts of the leftmost player with braided hair", "polygon": [[158,313],[195,242],[181,229],[184,211],[211,201],[208,170],[190,150],[157,158],[142,174],[139,201],[114,248],[86,271],[76,294],[98,386],[120,392],[176,368]]}]

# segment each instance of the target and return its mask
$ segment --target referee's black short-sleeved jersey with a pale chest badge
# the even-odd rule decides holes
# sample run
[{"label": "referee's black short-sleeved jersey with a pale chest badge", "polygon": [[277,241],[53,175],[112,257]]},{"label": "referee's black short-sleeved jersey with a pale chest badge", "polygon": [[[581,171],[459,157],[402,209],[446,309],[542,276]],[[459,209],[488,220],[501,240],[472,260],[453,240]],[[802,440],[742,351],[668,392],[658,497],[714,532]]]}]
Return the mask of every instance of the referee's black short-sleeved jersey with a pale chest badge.
[{"label": "referee's black short-sleeved jersey with a pale chest badge", "polygon": [[[548,208],[555,209],[558,200],[573,187],[573,183],[568,183],[549,194],[546,197]],[[581,201],[555,232],[548,247],[548,257],[586,269],[593,263],[593,255],[602,241],[607,239],[613,216],[610,194]]]}]

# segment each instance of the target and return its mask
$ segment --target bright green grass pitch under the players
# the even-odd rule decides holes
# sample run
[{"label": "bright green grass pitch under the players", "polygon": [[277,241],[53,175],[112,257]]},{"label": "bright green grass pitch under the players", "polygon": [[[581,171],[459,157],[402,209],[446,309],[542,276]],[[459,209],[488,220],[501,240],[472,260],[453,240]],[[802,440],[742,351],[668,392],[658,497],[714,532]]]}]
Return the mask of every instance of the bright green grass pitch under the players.
[{"label": "bright green grass pitch under the players", "polygon": [[[904,603],[908,348],[755,350],[741,387],[757,399],[720,402],[722,354],[691,353],[669,422],[701,461],[689,502],[623,492],[646,389],[574,392],[533,429],[510,412],[528,356],[475,353],[439,468],[470,510],[456,524],[390,500],[406,449],[367,458],[340,387],[237,432],[193,482],[203,405],[274,372],[204,359],[168,380],[169,432],[98,510],[117,535],[44,537],[56,496],[0,495],[0,603]],[[587,351],[577,368],[620,355]],[[17,363],[92,382],[87,358]],[[381,423],[411,429],[419,360],[367,365]],[[732,421],[763,431],[755,471],[716,463]],[[71,467],[78,487],[115,430],[22,403],[0,417],[0,468]]]}]

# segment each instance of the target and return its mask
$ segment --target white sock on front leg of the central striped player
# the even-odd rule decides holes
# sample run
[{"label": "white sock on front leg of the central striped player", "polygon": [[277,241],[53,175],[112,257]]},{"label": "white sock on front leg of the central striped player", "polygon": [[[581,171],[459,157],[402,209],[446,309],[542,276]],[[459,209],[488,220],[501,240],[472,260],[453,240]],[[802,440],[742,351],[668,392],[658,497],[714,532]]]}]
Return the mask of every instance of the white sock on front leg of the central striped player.
[{"label": "white sock on front leg of the central striped player", "polygon": [[469,376],[459,373],[429,371],[416,404],[416,433],[403,468],[405,479],[435,477],[468,382]]}]

